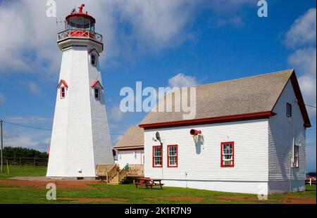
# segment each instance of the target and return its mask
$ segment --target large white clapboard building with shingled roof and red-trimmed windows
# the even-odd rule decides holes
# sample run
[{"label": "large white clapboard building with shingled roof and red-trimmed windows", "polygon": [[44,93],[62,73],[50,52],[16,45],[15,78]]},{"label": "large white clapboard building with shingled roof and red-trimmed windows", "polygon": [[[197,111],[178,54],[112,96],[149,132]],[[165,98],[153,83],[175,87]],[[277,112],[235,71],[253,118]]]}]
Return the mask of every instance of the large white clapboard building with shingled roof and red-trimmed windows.
[{"label": "large white clapboard building with shingled roof and red-trimmed windows", "polygon": [[196,93],[194,120],[152,111],[139,125],[145,177],[235,193],[304,191],[311,124],[294,70],[204,84]]}]

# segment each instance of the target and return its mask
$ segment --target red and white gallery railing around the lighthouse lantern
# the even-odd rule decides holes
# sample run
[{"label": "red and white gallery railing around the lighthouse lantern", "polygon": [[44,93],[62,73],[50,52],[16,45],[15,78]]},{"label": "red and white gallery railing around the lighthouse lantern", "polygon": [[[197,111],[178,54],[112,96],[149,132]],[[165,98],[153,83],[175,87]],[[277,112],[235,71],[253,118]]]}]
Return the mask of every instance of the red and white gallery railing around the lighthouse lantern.
[{"label": "red and white gallery railing around the lighthouse lantern", "polygon": [[90,30],[65,30],[57,34],[57,41],[67,38],[93,39],[102,43],[102,35]]}]

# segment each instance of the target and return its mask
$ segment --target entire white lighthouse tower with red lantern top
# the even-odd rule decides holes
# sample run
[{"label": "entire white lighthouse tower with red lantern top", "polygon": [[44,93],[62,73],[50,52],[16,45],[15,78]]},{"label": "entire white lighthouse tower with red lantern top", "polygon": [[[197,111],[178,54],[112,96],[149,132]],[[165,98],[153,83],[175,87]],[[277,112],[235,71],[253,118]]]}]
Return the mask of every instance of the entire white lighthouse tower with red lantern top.
[{"label": "entire white lighthouse tower with red lantern top", "polygon": [[113,164],[99,55],[104,51],[96,20],[82,8],[58,33],[63,52],[46,177],[93,178],[96,165]]}]

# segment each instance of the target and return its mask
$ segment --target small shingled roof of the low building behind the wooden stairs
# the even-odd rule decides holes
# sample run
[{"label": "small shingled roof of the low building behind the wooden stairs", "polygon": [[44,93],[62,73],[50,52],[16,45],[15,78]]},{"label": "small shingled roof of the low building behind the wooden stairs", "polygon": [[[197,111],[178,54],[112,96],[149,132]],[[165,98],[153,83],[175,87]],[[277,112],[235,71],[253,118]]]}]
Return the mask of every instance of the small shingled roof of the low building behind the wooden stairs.
[{"label": "small shingled roof of the low building behind the wooden stairs", "polygon": [[144,130],[140,127],[130,127],[128,132],[120,139],[120,141],[113,148],[128,149],[138,148],[144,145]]}]

